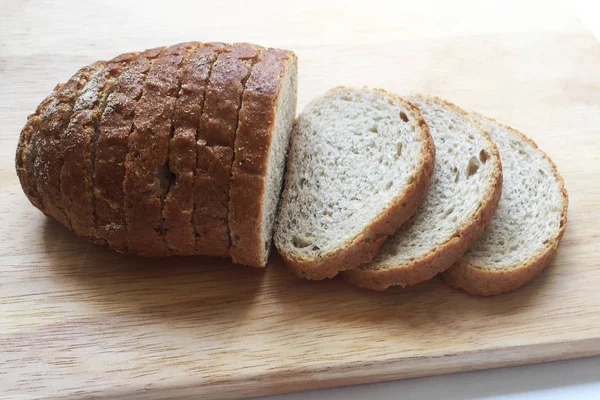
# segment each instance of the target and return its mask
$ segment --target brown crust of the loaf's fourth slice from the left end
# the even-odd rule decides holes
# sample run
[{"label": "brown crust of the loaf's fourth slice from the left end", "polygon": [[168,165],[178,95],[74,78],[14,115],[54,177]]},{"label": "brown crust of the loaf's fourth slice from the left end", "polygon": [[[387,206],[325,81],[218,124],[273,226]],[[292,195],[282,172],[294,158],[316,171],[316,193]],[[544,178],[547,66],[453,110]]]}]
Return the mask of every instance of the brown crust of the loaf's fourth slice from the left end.
[{"label": "brown crust of the loaf's fourth slice from the left end", "polygon": [[142,96],[146,73],[160,50],[146,50],[131,58],[116,79],[112,93],[98,126],[96,162],[94,169],[94,202],[98,235],[117,251],[127,250],[127,221],[125,216],[125,157],[137,101]]}]

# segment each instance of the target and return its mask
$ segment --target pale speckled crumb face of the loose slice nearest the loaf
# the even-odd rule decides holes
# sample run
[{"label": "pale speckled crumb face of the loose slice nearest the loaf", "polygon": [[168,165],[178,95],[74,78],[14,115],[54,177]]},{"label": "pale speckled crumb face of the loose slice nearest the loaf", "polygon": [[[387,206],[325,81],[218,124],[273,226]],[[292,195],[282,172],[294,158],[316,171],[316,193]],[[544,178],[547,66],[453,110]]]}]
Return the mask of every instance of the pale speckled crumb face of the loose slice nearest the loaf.
[{"label": "pale speckled crumb face of the loose slice nearest the loaf", "polygon": [[397,201],[426,146],[408,107],[382,91],[335,88],[304,109],[275,229],[280,252],[335,252]]}]

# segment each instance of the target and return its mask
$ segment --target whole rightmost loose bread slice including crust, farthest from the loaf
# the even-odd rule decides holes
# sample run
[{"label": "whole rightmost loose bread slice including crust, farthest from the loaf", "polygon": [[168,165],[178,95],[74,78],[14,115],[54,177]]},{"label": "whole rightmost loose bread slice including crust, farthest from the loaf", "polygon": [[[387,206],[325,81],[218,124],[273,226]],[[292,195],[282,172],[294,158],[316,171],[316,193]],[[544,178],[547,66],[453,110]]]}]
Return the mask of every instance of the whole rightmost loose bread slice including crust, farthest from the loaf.
[{"label": "whole rightmost loose bread slice including crust, farthest from the loaf", "polygon": [[522,133],[471,113],[496,142],[502,197],[481,238],[442,278],[472,294],[518,289],[553,259],[567,224],[568,196],[552,160]]}]

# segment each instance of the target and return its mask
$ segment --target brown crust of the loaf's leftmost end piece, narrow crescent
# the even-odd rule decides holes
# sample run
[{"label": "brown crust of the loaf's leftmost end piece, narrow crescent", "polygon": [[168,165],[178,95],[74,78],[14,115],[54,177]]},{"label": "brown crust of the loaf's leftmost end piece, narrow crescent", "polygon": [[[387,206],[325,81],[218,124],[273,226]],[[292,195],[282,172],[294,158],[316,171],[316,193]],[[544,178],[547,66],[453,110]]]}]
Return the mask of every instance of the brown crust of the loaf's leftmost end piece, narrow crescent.
[{"label": "brown crust of the loaf's leftmost end piece, narrow crescent", "polygon": [[19,135],[17,154],[15,156],[17,176],[19,177],[25,196],[27,196],[34,207],[46,215],[48,214],[44,210],[44,204],[37,190],[36,179],[33,173],[33,164],[37,155],[33,152],[32,147],[33,142],[38,139],[37,135],[40,124],[44,119],[43,115],[47,114],[46,110],[48,106],[56,101],[56,96],[61,87],[62,84],[56,85],[52,93],[37,106],[35,113],[27,117],[27,122]]}]

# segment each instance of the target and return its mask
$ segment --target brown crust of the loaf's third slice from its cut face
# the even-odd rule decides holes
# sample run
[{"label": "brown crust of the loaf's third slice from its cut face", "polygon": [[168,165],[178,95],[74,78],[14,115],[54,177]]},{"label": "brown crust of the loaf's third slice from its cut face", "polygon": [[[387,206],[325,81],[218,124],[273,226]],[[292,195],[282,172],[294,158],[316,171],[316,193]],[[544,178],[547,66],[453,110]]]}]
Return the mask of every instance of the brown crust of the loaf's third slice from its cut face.
[{"label": "brown crust of the loaf's third slice from its cut face", "polygon": [[183,64],[181,90],[175,104],[174,133],[169,142],[169,167],[175,179],[165,198],[163,219],[169,248],[177,255],[196,253],[192,223],[196,175],[196,135],[212,64],[224,45],[197,44]]}]

